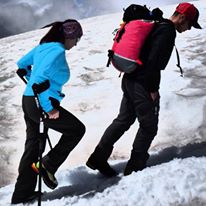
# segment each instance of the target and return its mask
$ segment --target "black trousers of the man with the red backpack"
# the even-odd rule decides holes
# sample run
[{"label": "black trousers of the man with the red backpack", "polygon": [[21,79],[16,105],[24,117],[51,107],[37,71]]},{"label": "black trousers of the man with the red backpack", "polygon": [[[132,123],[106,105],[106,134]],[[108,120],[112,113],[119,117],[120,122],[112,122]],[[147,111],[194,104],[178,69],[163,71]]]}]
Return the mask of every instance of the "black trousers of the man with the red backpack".
[{"label": "black trousers of the man with the red backpack", "polygon": [[[113,148],[114,143],[135,122],[139,121],[139,129],[134,139],[132,158],[146,161],[149,157],[148,149],[158,130],[159,97],[153,101],[139,83],[123,77],[123,98],[120,111],[116,119],[104,132],[98,147],[102,151]],[[135,160],[133,160],[135,161]]]}]

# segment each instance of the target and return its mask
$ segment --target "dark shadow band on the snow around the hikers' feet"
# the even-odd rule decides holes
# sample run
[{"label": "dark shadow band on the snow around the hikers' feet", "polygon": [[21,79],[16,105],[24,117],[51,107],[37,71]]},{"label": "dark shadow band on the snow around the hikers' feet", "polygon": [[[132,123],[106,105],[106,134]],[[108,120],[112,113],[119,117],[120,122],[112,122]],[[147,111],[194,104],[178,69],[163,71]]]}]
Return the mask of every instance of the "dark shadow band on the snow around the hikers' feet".
[{"label": "dark shadow band on the snow around the hikers' feet", "polygon": [[[206,156],[206,142],[188,144],[183,147],[169,147],[158,154],[151,155],[148,160],[148,167],[169,162],[174,158],[202,157]],[[122,173],[126,161],[113,165],[114,169]],[[122,174],[113,178],[106,178],[99,173],[89,173],[86,167],[81,166],[69,173],[70,186],[63,186],[53,192],[45,193],[43,201],[60,199],[66,196],[92,197],[97,192],[102,192],[106,188],[118,184]]]}]

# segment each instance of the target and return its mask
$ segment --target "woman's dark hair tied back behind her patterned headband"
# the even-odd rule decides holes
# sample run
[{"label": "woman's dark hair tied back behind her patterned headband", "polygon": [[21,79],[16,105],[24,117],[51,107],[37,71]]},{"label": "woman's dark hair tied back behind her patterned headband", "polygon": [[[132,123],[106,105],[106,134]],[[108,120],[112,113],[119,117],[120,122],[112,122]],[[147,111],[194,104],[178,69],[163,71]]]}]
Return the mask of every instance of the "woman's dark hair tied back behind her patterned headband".
[{"label": "woman's dark hair tied back behind her patterned headband", "polygon": [[40,40],[40,44],[49,43],[49,42],[60,42],[64,43],[65,37],[63,32],[62,25],[66,22],[77,22],[75,19],[68,19],[65,21],[57,21],[51,24],[44,26],[43,28],[47,28],[52,26],[52,28],[47,32],[47,34]]}]

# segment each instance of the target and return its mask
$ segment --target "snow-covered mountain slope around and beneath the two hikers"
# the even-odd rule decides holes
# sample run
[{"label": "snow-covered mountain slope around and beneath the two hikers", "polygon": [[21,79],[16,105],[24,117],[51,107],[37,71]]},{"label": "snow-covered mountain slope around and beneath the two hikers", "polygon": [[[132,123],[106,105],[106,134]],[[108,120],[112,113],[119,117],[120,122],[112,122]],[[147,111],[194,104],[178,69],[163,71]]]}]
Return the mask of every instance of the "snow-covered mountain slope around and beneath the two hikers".
[{"label": "snow-covered mountain slope around and beneath the two hikers", "polygon": [[[84,36],[67,53],[71,80],[64,87],[66,97],[62,106],[76,115],[87,130],[59,168],[58,188],[51,191],[43,184],[43,206],[206,205],[206,5],[203,2],[194,2],[203,29],[177,35],[184,77],[180,77],[176,67],[175,52],[162,72],[159,131],[149,150],[148,167],[128,177],[122,173],[138,122],[115,144],[109,159],[118,171],[117,177],[107,179],[85,166],[119,110],[121,78],[112,66],[105,65],[112,31],[118,27],[122,13],[81,20]],[[175,5],[161,7],[165,16],[170,16],[174,8]],[[16,62],[46,32],[47,29],[35,30],[0,40],[0,206],[10,205],[25,141],[21,109],[25,85],[15,74]],[[49,135],[54,145],[60,134],[50,130]]]}]

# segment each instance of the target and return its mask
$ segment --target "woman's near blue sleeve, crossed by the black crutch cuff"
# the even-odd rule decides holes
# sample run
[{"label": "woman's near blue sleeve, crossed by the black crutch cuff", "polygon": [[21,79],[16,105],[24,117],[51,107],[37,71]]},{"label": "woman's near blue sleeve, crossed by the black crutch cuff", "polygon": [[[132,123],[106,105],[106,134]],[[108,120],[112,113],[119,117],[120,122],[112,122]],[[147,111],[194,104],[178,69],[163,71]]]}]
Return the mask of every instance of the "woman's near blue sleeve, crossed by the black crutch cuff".
[{"label": "woman's near blue sleeve, crossed by the black crutch cuff", "polygon": [[[46,56],[44,59],[41,59],[41,66],[38,68],[38,71],[35,73],[34,83],[40,84],[46,80],[52,81],[54,77],[54,73],[58,70],[58,65],[56,65],[57,59],[61,58],[61,55],[64,55],[65,52],[62,49],[53,49]],[[40,105],[42,106],[45,112],[50,112],[54,108],[51,105],[51,101],[49,100],[49,91],[50,88],[39,94],[39,101]]]}]

